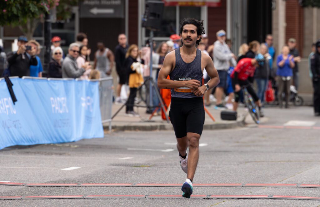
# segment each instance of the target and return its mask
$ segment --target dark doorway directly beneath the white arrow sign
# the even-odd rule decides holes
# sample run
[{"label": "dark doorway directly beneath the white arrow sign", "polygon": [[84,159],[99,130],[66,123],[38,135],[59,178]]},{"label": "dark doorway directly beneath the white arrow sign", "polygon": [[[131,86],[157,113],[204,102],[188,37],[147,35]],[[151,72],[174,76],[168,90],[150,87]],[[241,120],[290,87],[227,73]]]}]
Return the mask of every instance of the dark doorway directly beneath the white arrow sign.
[{"label": "dark doorway directly beneath the white arrow sign", "polygon": [[80,32],[88,36],[88,45],[92,51],[90,60],[94,60],[94,53],[98,50],[98,42],[103,42],[106,47],[115,52],[118,35],[124,33],[124,27],[124,19],[80,18]]}]

